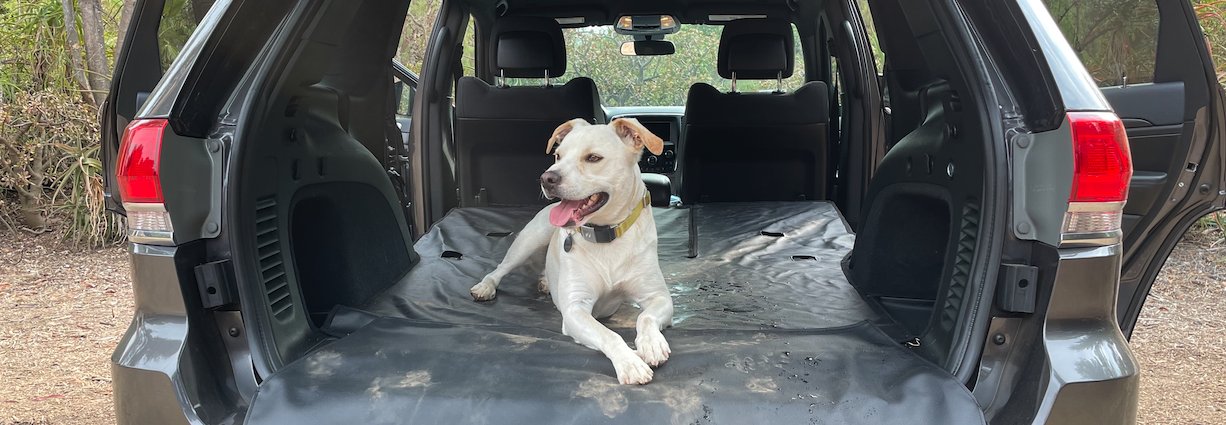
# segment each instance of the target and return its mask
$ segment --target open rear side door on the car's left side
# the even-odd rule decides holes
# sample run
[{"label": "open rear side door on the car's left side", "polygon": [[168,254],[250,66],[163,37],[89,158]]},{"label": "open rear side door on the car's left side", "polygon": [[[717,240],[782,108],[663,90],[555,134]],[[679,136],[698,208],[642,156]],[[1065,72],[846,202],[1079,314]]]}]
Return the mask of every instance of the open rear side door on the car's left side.
[{"label": "open rear side door on the car's left side", "polygon": [[115,157],[124,129],[216,0],[135,1],[124,45],[115,53],[115,71],[101,122],[107,209],[120,214],[124,207],[115,181]]}]

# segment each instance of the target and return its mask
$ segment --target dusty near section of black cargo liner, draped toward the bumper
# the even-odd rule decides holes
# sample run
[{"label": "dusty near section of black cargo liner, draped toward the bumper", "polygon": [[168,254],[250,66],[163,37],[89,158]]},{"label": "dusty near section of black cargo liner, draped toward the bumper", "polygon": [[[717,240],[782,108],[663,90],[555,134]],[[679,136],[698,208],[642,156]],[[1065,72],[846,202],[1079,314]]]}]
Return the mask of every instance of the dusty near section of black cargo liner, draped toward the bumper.
[{"label": "dusty near section of black cargo liner, draped toward the bumper", "polygon": [[380,318],[266,380],[248,423],[983,423],[964,386],[867,323],[664,334],[672,359],[623,386],[557,332]]}]

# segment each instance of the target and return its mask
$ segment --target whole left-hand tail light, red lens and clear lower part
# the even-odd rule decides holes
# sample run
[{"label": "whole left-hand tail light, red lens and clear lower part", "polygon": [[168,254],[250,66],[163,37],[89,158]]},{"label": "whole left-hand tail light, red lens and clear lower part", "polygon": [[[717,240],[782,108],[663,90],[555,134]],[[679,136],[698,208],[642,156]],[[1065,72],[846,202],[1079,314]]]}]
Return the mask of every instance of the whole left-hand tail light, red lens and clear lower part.
[{"label": "whole left-hand tail light, red lens and clear lower part", "polygon": [[128,239],[172,245],[174,227],[162,196],[162,137],[167,120],[134,120],[124,130],[115,165],[119,196],[128,212]]}]

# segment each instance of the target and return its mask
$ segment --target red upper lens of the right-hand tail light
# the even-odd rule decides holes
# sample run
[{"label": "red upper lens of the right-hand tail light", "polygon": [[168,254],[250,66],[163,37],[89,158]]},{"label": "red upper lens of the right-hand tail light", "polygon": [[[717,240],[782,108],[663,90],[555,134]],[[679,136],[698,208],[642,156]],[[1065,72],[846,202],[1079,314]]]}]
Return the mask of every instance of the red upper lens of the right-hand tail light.
[{"label": "red upper lens of the right-hand tail light", "polygon": [[1070,202],[1119,202],[1128,198],[1133,158],[1124,124],[1112,113],[1069,113],[1073,127]]}]

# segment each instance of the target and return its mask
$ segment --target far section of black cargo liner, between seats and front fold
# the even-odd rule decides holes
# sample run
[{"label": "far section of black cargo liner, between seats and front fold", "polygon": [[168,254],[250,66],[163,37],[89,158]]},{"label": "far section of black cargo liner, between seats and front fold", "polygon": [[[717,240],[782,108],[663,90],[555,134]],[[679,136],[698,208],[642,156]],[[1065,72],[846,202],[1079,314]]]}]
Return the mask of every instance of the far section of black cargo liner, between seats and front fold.
[{"label": "far section of black cargo liner, between seats and front fold", "polygon": [[[509,274],[493,301],[468,295],[537,211],[452,211],[414,246],[422,262],[364,309],[445,323],[559,329],[562,315],[537,293],[543,265]],[[840,261],[855,236],[829,202],[712,203],[653,213],[676,328],[819,329],[879,318],[843,277]],[[606,323],[634,327],[638,312],[623,306]]]}]

